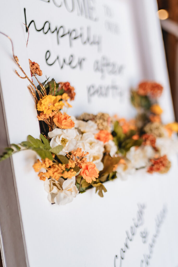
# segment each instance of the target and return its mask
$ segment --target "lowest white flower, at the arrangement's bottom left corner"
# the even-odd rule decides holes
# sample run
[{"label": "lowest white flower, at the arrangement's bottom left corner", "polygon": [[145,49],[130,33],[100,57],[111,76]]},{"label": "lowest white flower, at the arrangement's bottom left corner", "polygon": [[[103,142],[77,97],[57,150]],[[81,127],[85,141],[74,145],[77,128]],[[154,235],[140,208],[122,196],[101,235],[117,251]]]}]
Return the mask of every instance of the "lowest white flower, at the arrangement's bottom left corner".
[{"label": "lowest white flower, at the arrangement's bottom left corner", "polygon": [[46,192],[48,192],[49,201],[58,205],[65,205],[72,202],[73,198],[79,193],[75,181],[75,176],[67,180],[59,178],[58,181],[55,179],[46,179],[44,187]]}]

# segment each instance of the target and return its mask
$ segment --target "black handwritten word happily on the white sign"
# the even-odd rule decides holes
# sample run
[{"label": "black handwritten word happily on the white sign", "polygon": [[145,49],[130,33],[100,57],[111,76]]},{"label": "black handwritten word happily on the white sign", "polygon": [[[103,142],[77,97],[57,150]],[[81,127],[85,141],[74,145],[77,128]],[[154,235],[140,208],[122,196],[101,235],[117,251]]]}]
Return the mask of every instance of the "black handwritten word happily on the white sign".
[{"label": "black handwritten word happily on the white sign", "polygon": [[[24,16],[25,16],[25,24],[28,28],[30,28],[30,25],[33,23],[34,28],[37,32],[43,32],[44,34],[47,34],[48,32],[56,34],[57,38],[57,44],[59,45],[61,40],[64,40],[64,38],[68,38],[69,47],[73,46],[74,41],[80,40],[82,45],[89,44],[89,45],[96,45],[98,48],[98,51],[101,49],[101,36],[91,33],[91,27],[88,26],[84,30],[84,28],[78,29],[66,29],[64,25],[61,26],[51,26],[51,23],[49,21],[45,21],[43,23],[43,26],[41,28],[37,28],[36,22],[34,20],[31,20],[29,23],[27,22],[26,18],[26,9],[24,8]],[[28,29],[26,27],[26,32],[28,32]]]}]

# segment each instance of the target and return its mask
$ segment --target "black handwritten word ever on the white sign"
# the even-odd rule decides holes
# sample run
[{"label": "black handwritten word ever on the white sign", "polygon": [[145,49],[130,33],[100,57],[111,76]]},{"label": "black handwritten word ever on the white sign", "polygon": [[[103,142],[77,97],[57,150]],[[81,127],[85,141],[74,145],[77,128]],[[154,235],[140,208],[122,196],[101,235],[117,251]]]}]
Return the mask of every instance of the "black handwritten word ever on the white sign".
[{"label": "black handwritten word ever on the white sign", "polygon": [[[81,70],[83,67],[82,63],[86,59],[86,58],[82,57],[82,58],[78,58],[77,60],[75,60],[75,56],[72,54],[69,56],[68,59],[62,58],[62,60],[60,59],[60,56],[57,56],[54,60],[52,60],[50,57],[51,57],[51,53],[48,50],[46,52],[46,56],[45,56],[46,63],[49,66],[52,66],[57,61],[60,69],[63,69],[64,65],[68,65],[71,69],[76,69],[77,67],[79,67],[79,69]],[[51,60],[51,62],[50,62],[50,60]]]}]

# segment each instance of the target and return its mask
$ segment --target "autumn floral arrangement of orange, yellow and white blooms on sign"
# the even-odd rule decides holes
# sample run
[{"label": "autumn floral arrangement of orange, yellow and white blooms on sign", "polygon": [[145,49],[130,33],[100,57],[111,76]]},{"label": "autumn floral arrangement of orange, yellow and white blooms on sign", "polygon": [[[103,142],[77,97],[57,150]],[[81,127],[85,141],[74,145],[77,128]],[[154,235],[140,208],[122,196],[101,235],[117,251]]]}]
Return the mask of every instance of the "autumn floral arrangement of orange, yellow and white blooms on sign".
[{"label": "autumn floral arrangement of orange, yellow and white blooms on sign", "polygon": [[157,102],[163,92],[160,84],[144,81],[131,91],[131,102],[137,109],[135,119],[127,121],[107,113],[83,113],[75,118],[64,112],[71,107],[68,101],[75,98],[70,83],[56,83],[54,79],[40,83],[37,75],[42,71],[36,62],[29,60],[29,78],[14,52],[13,58],[24,74],[21,77],[16,71],[18,76],[29,80],[41,134],[40,139],[29,135],[27,141],[11,144],[1,160],[20,150],[35,151],[39,159],[33,168],[52,204],[69,203],[92,187],[103,197],[107,191],[104,182],[124,179],[142,168],[150,174],[169,171],[169,154],[178,151],[178,123],[161,123],[163,110]]}]

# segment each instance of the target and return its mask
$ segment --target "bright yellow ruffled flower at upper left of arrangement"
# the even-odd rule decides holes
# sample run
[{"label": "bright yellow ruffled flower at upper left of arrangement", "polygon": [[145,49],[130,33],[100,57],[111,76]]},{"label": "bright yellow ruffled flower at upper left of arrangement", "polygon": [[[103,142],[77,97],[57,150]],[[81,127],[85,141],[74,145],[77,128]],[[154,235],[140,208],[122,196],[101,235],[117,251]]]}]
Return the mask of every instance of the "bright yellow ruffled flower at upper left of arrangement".
[{"label": "bright yellow ruffled flower at upper left of arrangement", "polygon": [[64,106],[62,101],[59,101],[59,96],[43,96],[37,104],[37,110],[43,111],[45,114],[50,114],[57,109],[61,109]]}]

